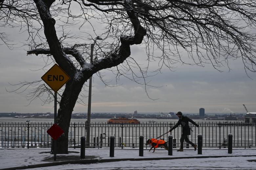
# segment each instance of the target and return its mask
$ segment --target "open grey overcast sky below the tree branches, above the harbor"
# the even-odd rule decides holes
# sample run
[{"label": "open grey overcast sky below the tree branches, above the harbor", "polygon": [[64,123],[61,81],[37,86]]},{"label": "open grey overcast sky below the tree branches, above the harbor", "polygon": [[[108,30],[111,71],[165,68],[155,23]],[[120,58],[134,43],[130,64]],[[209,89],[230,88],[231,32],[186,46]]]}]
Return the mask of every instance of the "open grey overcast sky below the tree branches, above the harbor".
[{"label": "open grey overcast sky below the tree branches, above the harbor", "polygon": [[[2,28],[1,28],[2,29]],[[16,47],[25,42],[26,32],[18,30],[5,30],[10,34],[9,39],[14,40]],[[6,45],[0,45],[0,112],[54,112],[53,103],[42,106],[38,99],[29,101],[24,97],[27,93],[10,93],[15,90],[21,81],[40,80],[45,73],[41,69],[44,61],[40,56],[27,56],[28,47],[23,46],[10,50]],[[131,57],[143,61],[146,59],[145,50],[140,46],[132,46]],[[154,63],[158,64],[158,63]],[[152,64],[153,65],[153,64]],[[212,68],[176,64],[174,71],[163,69],[162,74],[150,77],[150,84],[159,88],[148,87],[147,92],[153,99],[147,97],[142,85],[128,79],[121,78],[118,87],[106,87],[97,76],[94,76],[92,88],[92,112],[191,112],[198,113],[199,108],[205,112],[230,113],[245,112],[242,104],[249,111],[256,111],[256,73],[246,76],[243,63],[240,59],[230,60],[224,72]],[[153,65],[154,67],[154,65]],[[50,68],[50,67],[49,67]],[[108,80],[115,75],[106,72]],[[85,98],[84,102],[87,103]],[[26,106],[28,105],[28,106]],[[77,104],[74,112],[87,112],[87,106]]]}]

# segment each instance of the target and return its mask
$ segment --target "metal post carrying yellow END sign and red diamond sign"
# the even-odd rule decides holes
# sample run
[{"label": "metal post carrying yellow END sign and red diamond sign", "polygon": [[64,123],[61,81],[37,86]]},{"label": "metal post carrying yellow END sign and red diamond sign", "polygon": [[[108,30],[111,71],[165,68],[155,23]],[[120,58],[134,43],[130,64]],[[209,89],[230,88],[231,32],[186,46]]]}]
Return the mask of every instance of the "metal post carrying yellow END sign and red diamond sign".
[{"label": "metal post carrying yellow END sign and red diamond sign", "polygon": [[66,84],[70,77],[57,65],[48,70],[42,77],[54,91],[54,124],[47,130],[47,133],[53,138],[53,160],[56,161],[57,139],[63,133],[63,130],[56,124],[57,123],[57,92]]}]

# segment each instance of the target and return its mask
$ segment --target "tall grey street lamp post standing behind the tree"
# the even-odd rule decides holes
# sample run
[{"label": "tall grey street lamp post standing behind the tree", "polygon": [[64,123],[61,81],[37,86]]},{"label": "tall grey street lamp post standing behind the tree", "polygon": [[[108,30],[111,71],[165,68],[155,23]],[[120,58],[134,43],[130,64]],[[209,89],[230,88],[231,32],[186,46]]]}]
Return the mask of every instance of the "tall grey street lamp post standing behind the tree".
[{"label": "tall grey street lamp post standing behind the tree", "polygon": [[[93,63],[93,49],[97,40],[102,40],[99,36],[94,39],[91,44],[91,63]],[[92,76],[89,79],[89,96],[88,96],[88,110],[87,110],[87,129],[86,129],[86,146],[90,143],[90,124],[91,124],[91,102],[92,102]]]}]

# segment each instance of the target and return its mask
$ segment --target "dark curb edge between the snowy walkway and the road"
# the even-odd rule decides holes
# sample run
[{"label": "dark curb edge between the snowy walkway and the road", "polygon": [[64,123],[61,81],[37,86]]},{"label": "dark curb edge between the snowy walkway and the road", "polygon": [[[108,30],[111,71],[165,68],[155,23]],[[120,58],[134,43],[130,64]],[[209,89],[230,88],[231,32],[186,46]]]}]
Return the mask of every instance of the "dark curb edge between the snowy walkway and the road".
[{"label": "dark curb edge between the snowy walkway and the road", "polygon": [[71,160],[71,161],[59,161],[50,163],[41,163],[35,165],[18,166],[11,168],[4,168],[0,170],[15,170],[15,169],[28,169],[28,168],[39,168],[47,166],[57,166],[65,164],[90,164],[90,163],[103,163],[103,162],[117,162],[117,161],[154,161],[154,160],[175,160],[175,159],[192,159],[192,158],[221,158],[221,157],[256,157],[256,155],[239,155],[239,156],[193,156],[193,157],[165,157],[165,158],[123,158],[123,159],[92,159],[92,160]]}]

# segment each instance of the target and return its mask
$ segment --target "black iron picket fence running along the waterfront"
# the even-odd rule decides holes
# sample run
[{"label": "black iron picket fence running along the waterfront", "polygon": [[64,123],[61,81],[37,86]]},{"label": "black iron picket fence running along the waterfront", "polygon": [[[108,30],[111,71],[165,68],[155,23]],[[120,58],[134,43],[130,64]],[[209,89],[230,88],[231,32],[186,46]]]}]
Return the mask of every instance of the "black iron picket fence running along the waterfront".
[{"label": "black iron picket fence running along the waterfront", "polygon": [[[197,144],[198,134],[203,136],[203,147],[227,147],[228,134],[233,135],[233,147],[256,147],[256,123],[197,123],[199,127],[190,125],[193,131],[189,140]],[[115,147],[139,147],[139,136],[147,139],[157,138],[169,131],[175,123],[140,123],[140,124],[106,124],[106,123],[72,123],[69,129],[69,147],[79,147],[80,137],[86,136],[90,127],[90,147],[109,147],[110,136],[115,137]],[[52,123],[1,123],[0,147],[51,147],[52,138],[47,130]],[[168,136],[173,136],[173,146],[180,146],[181,127],[172,134],[167,133],[161,139],[168,142]],[[184,147],[189,147],[185,144]]]}]

